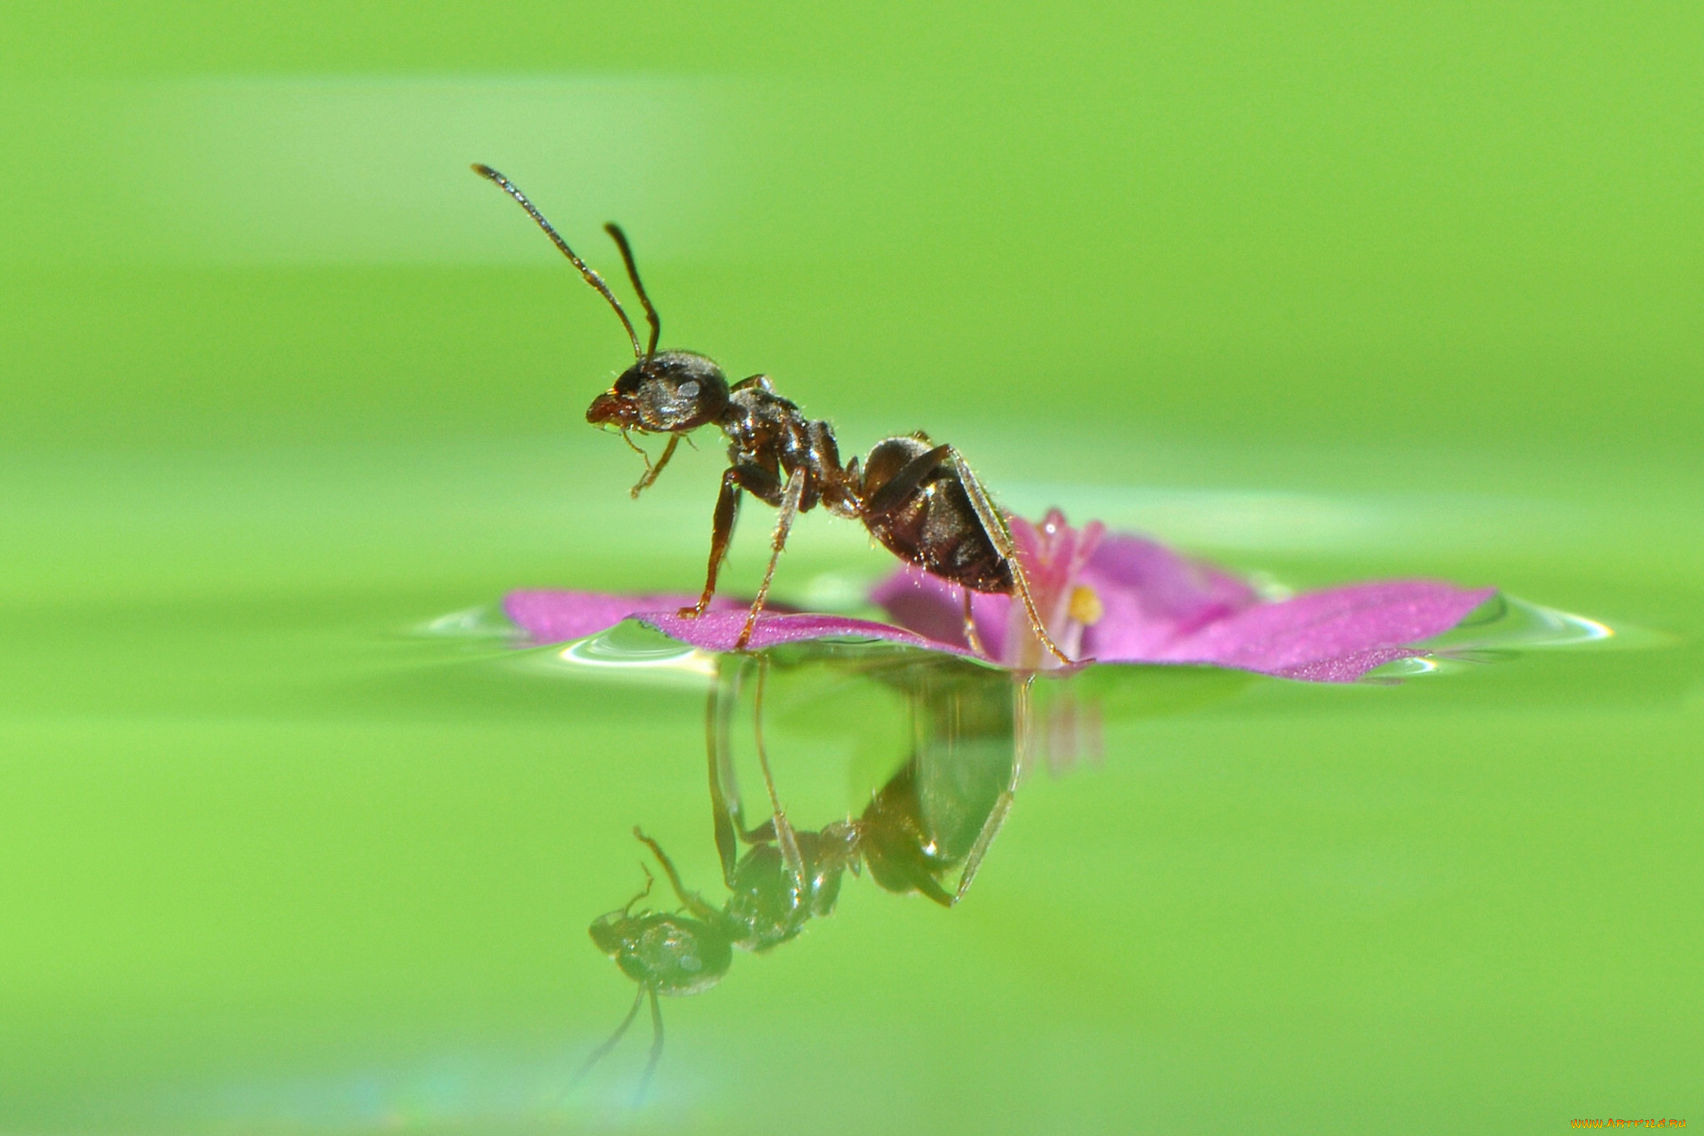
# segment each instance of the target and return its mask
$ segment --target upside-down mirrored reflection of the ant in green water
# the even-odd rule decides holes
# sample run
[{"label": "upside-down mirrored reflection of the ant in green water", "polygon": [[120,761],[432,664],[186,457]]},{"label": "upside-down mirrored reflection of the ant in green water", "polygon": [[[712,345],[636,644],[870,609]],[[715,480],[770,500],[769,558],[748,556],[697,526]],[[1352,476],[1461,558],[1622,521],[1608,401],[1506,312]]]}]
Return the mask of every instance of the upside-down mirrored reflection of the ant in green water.
[{"label": "upside-down mirrored reflection of the ant in green water", "polygon": [[[654,887],[591,923],[591,940],[639,984],[632,1008],[608,1041],[581,1064],[578,1083],[625,1036],[651,1001],[651,1054],[636,1102],[663,1054],[661,996],[695,995],[722,979],[734,947],[763,952],[796,938],[806,923],[833,913],[850,870],[869,869],[883,889],[918,892],[942,908],[970,891],[988,845],[1005,821],[1024,772],[1029,678],[956,659],[874,663],[872,676],[898,686],[912,715],[908,760],[855,818],[801,829],[787,819],[763,741],[763,697],[772,654],[724,656],[705,709],[711,821],[728,898],[721,904],[690,889],[663,846],[634,828],[680,901],[671,911],[642,906]],[[746,826],[729,744],[740,686],[755,668],[753,741],[769,818]],[[953,874],[956,882],[949,882]]]}]

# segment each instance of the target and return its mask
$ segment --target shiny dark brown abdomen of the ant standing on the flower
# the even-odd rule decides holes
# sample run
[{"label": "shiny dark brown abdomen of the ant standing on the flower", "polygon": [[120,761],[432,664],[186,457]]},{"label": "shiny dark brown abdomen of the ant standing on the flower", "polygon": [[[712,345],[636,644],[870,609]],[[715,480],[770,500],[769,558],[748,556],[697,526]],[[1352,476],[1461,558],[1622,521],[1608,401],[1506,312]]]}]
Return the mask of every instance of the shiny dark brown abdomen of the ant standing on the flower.
[{"label": "shiny dark brown abdomen of the ant standing on the flower", "polygon": [[1012,591],[1012,564],[976,516],[947,446],[888,438],[864,462],[864,526],[893,555],[971,591]]}]

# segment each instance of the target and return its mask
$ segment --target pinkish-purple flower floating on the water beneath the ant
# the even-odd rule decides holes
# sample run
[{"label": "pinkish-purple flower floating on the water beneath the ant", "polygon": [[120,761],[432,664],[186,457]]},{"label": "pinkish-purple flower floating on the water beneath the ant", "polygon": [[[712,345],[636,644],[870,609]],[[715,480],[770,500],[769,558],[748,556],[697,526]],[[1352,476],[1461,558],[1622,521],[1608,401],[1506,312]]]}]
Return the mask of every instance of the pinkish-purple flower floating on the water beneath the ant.
[{"label": "pinkish-purple flower floating on the water beneath the ant", "polygon": [[[1080,530],[1056,509],[1041,525],[1012,518],[1012,536],[1036,608],[1053,640],[1096,663],[1212,664],[1322,683],[1426,654],[1414,644],[1442,635],[1494,594],[1442,581],[1397,579],[1327,588],[1268,601],[1247,581],[1143,536]],[[893,623],[838,615],[765,610],[751,649],[806,639],[857,637],[975,656],[964,637],[956,584],[903,567],[871,600]],[[731,651],[746,605],[717,600],[697,620],[676,610],[694,596],[613,596],[584,591],[515,591],[503,610],[537,642],[595,635],[637,618],[707,651]],[[971,596],[987,659],[1014,669],[1056,664],[1036,640],[1021,603]]]}]

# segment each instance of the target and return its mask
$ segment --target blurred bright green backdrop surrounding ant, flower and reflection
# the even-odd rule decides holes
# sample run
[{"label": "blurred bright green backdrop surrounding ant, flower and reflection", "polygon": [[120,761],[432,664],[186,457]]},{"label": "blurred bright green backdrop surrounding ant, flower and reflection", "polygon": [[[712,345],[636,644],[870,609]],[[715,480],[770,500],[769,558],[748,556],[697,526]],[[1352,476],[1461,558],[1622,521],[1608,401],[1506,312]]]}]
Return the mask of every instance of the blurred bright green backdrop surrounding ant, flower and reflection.
[{"label": "blurred bright green backdrop surrounding ant, flower and reflection", "polygon": [[[0,1127],[1695,1122],[1701,55],[1687,3],[5,5]],[[1114,715],[964,906],[849,884],[666,1007],[648,1109],[632,1039],[562,1097],[629,828],[714,879],[699,693],[414,628],[690,589],[719,448],[627,499],[620,330],[474,160],[849,451],[1660,645]],[[884,567],[813,516],[777,594]],[[886,727],[818,710],[832,812]]]}]

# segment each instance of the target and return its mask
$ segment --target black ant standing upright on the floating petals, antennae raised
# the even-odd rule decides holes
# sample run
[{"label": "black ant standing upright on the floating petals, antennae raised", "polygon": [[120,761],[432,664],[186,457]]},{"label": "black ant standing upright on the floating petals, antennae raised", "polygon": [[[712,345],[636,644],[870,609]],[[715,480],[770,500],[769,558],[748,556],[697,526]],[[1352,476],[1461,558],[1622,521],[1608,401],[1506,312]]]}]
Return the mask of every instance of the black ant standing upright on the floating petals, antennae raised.
[{"label": "black ant standing upright on the floating petals, antennae raised", "polygon": [[[644,458],[646,472],[632,487],[632,496],[637,497],[656,482],[668,460],[675,456],[675,446],[692,431],[700,426],[717,426],[728,436],[728,468],[722,472],[722,489],[716,497],[704,594],[695,605],[682,608],[682,617],[704,615],[716,594],[716,576],[721,572],[733,536],[741,492],[750,492],[777,508],[780,516],[775,519],[770,540],[769,569],[757,589],[757,600],[751,601],[745,628],[734,642],[736,651],[745,651],[751,642],[751,630],[769,598],[775,562],[787,543],[794,518],[821,504],[835,516],[862,521],[864,528],[901,560],[918,564],[927,572],[958,584],[964,596],[964,637],[973,651],[987,654],[971,622],[971,593],[1016,594],[1041,645],[1062,664],[1072,663],[1048,635],[1036,610],[1005,518],[958,450],[949,445],[937,446],[918,431],[876,443],[862,468],[857,458],[842,463],[830,424],[804,417],[794,402],[775,393],[767,375],[753,375],[729,387],[721,366],[711,358],[695,351],[658,351],[663,322],[644,284],[639,283],[639,267],[634,264],[627,235],[612,221],[603,230],[620,249],[627,279],[639,293],[639,303],[644,305],[646,320],[651,324],[651,339],[641,349],[639,334],[615,293],[567,247],[544,213],[515,182],[489,165],[474,165],[474,172],[496,182],[527,209],[586,283],[608,300],[632,341],[634,364],[615,380],[613,387],[593,399],[586,410],[588,422],[620,429],[622,439]],[[634,445],[629,431],[668,434],[668,445],[656,465]]]}]

